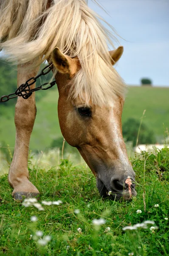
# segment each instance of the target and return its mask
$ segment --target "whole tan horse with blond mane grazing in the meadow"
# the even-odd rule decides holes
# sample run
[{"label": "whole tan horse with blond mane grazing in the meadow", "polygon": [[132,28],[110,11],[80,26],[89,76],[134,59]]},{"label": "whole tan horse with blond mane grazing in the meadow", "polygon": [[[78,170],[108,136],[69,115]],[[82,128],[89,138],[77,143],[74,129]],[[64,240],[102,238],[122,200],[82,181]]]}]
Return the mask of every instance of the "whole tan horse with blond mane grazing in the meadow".
[{"label": "whole tan horse with blond mane grazing in the meadow", "polygon": [[[17,63],[17,86],[36,76],[45,60],[53,65],[63,137],[95,175],[101,197],[127,201],[136,196],[135,172],[121,128],[126,86],[113,67],[123,47],[115,49],[114,39],[87,0],[0,1],[0,48]],[[36,112],[34,93],[18,97],[8,182],[19,201],[39,196],[27,168]]]}]

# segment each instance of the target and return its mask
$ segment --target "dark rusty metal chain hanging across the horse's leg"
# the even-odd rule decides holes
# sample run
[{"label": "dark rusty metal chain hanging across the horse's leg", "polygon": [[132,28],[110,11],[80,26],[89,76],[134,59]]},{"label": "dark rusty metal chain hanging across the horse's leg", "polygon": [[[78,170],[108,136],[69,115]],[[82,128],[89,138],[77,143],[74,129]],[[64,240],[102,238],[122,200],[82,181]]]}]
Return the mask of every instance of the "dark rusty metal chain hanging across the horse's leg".
[{"label": "dark rusty metal chain hanging across the horse's leg", "polygon": [[[45,71],[46,69],[48,69],[47,71]],[[51,65],[48,65],[46,67],[44,67],[41,71],[41,73],[39,73],[37,76],[31,77],[30,79],[28,79],[25,84],[21,84],[20,87],[17,88],[17,90],[14,93],[8,94],[8,95],[3,95],[0,98],[0,102],[7,102],[9,99],[14,99],[16,97],[23,97],[23,99],[28,99],[33,92],[36,92],[37,90],[48,90],[49,88],[53,87],[56,84],[56,81],[52,81],[51,83],[45,83],[40,85],[37,88],[31,89],[30,86],[32,84],[34,84],[37,79],[40,76],[45,76],[46,74],[48,74],[50,71],[52,70]],[[44,72],[45,71],[45,72]],[[50,86],[45,87],[45,85],[50,84]],[[14,95],[14,96],[13,96]]]}]

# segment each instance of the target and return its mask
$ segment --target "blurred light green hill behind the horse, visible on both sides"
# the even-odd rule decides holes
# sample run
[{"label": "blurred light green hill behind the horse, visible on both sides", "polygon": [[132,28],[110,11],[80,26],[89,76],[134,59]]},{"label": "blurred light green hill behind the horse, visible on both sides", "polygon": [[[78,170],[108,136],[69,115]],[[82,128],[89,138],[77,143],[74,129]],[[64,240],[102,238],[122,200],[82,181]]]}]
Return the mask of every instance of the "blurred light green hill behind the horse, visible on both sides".
[{"label": "blurred light green hill behind the horse, visible on both sides", "polygon": [[[39,96],[40,94],[40,96]],[[45,150],[51,142],[61,136],[57,116],[58,91],[37,92],[37,117],[31,136],[31,150]],[[163,138],[163,123],[169,128],[169,88],[129,87],[122,121],[133,117],[140,119],[146,109],[143,122],[152,129],[157,142]],[[14,106],[0,105],[0,143],[14,147]]]}]

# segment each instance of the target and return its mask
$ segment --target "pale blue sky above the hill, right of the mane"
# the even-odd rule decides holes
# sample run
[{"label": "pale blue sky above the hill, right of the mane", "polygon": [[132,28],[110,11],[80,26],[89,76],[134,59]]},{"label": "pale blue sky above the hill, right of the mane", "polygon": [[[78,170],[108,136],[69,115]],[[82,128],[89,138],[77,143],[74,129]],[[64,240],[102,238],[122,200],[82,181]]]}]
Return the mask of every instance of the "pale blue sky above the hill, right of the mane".
[{"label": "pale blue sky above the hill, right of the mane", "polygon": [[[125,40],[124,55],[116,69],[127,84],[142,77],[153,85],[169,86],[169,0],[100,0],[89,6],[112,25]],[[117,46],[117,45],[115,45]]]}]

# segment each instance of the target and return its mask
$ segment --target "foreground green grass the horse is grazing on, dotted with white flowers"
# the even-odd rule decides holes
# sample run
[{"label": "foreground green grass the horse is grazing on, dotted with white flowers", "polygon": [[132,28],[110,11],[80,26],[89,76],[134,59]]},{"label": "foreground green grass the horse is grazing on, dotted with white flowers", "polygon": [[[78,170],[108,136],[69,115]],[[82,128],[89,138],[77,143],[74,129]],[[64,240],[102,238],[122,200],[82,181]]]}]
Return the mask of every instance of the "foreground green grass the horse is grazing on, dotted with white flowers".
[{"label": "foreground green grass the horse is grazing on, dotted with white flowers", "polygon": [[[40,202],[63,202],[57,207],[45,206],[44,211],[14,201],[7,176],[0,177],[0,255],[169,255],[169,221],[165,220],[169,218],[169,149],[155,155],[143,152],[142,157],[132,161],[138,195],[130,202],[101,199],[90,170],[77,169],[68,160],[62,161],[57,170],[29,167],[30,180],[41,194]],[[75,214],[75,209],[80,213]],[[140,214],[136,213],[138,209]],[[37,222],[30,221],[33,215]],[[92,220],[101,217],[106,224],[97,229]],[[122,230],[145,220],[155,221],[158,229]],[[106,227],[110,227],[109,232],[105,232]],[[31,237],[36,230],[51,236],[45,247],[38,246]]]}]

